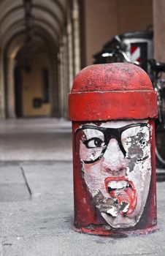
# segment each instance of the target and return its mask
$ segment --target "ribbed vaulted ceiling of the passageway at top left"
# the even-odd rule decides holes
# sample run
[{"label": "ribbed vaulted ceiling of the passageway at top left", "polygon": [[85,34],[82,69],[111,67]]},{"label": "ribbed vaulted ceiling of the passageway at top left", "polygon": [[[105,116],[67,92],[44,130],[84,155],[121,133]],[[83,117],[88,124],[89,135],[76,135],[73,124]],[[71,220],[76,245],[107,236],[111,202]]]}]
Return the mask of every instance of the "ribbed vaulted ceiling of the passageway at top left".
[{"label": "ribbed vaulted ceiling of the passageway at top left", "polygon": [[[72,0],[0,0],[0,46],[40,39],[57,48]],[[18,39],[16,39],[18,37]],[[15,45],[15,47],[18,47]]]}]

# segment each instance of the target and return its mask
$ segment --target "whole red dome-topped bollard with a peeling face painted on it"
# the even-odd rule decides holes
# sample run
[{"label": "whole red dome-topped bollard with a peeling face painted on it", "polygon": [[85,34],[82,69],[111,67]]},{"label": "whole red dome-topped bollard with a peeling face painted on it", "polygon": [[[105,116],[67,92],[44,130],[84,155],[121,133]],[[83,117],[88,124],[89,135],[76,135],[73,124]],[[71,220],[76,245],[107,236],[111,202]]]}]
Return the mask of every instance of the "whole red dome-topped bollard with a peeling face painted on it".
[{"label": "whole red dome-topped bollard with a peeling face painted on it", "polygon": [[82,69],[69,94],[75,230],[102,236],[156,230],[156,92],[133,64]]}]

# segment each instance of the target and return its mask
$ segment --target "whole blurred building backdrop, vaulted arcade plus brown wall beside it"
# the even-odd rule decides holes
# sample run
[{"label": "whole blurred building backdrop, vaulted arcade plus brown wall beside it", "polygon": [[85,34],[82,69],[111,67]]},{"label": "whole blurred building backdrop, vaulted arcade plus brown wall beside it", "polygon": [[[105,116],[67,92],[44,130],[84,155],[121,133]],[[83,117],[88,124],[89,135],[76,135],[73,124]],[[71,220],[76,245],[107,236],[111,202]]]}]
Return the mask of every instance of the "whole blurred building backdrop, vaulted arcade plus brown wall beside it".
[{"label": "whole blurred building backdrop, vaulted arcade plus brown wall beside it", "polygon": [[1,0],[0,10],[1,119],[67,118],[74,75],[116,34],[154,31],[165,61],[164,0]]}]

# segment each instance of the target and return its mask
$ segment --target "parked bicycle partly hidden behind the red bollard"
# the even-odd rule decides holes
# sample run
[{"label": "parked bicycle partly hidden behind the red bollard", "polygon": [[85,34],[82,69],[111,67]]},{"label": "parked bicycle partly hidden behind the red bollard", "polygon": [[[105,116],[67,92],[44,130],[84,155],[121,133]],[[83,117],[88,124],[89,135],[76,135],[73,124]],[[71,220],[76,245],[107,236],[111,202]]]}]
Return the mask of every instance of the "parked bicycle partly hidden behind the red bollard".
[{"label": "parked bicycle partly hidden behind the red bollard", "polygon": [[[101,53],[102,58],[107,58],[107,62],[128,62],[131,64],[141,65],[139,61],[132,61],[128,58],[125,52],[126,46],[120,42],[118,36],[115,37],[116,42],[113,49],[104,49]],[[161,75],[165,73],[165,63],[150,59],[148,61],[150,66],[150,78],[153,83],[153,89],[157,93],[158,103],[158,119],[156,120],[156,162],[160,167],[165,167],[165,79]]]}]

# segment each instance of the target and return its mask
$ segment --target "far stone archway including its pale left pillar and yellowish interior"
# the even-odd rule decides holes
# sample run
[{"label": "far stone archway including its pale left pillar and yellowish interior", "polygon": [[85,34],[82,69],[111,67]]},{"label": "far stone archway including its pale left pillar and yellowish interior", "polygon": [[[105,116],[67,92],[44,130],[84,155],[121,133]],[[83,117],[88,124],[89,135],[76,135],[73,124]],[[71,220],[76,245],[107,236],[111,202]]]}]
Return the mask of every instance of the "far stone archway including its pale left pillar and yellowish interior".
[{"label": "far stone archway including its pale left pillar and yellowish interior", "polygon": [[58,83],[52,48],[38,38],[20,44],[12,40],[5,52],[5,99],[8,118],[59,116]]}]

